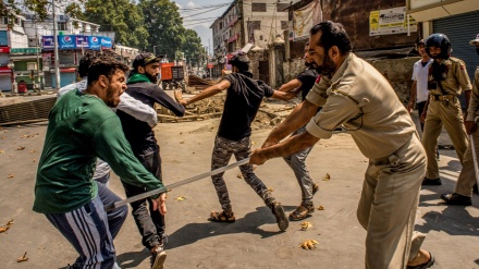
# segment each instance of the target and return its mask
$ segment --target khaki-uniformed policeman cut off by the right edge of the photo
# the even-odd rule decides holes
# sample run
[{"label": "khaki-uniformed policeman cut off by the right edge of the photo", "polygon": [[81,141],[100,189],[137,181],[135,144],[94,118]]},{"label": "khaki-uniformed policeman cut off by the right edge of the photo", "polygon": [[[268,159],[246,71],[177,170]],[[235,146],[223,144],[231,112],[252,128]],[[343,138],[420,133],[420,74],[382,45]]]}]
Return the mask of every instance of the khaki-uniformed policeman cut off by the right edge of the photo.
[{"label": "khaki-uniformed policeman cut off by the right edge of the photo", "polygon": [[[479,54],[479,35],[476,39],[470,40],[470,45],[476,47],[476,51]],[[474,158],[471,147],[476,148],[476,152],[479,152],[479,132],[477,132],[477,118],[479,115],[479,66],[476,69],[474,75],[472,94],[469,100],[469,108],[466,117],[466,132],[468,135],[472,135],[474,144],[467,148],[464,160],[463,170],[457,179],[456,192],[453,194],[443,194],[441,198],[447,203],[447,205],[471,206],[472,200],[472,186],[476,183],[476,171],[474,169]]]}]

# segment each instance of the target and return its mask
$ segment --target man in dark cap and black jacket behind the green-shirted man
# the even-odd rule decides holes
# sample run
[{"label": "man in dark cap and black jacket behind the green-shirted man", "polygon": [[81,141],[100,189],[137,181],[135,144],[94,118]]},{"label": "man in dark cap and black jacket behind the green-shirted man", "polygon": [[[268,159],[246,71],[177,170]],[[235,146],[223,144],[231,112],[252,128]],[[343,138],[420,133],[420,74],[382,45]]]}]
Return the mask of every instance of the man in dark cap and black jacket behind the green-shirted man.
[{"label": "man in dark cap and black jacket behind the green-shirted man", "polygon": [[[157,85],[160,72],[161,57],[152,53],[140,53],[133,61],[133,70],[130,73],[126,93],[133,98],[150,106],[159,103],[171,110],[176,115],[184,115],[185,108],[174,101],[163,89]],[[138,121],[131,114],[118,111],[122,122],[126,139],[132,145],[136,158],[150,171],[159,182],[162,182],[160,147],[155,137],[155,131],[145,122]],[[144,187],[123,183],[127,197],[145,192]],[[149,204],[149,212],[147,208]],[[151,252],[151,268],[162,268],[156,262],[157,255],[162,253],[165,244],[164,218],[152,209],[151,199],[134,201],[132,215],[138,231],[143,236],[142,243]]]}]

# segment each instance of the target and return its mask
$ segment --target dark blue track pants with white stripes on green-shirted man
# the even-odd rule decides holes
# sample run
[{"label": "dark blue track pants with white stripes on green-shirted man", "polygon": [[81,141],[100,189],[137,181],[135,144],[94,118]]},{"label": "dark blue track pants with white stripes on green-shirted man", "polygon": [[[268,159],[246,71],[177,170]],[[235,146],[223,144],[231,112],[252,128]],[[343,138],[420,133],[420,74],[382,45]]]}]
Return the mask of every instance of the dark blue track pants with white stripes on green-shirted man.
[{"label": "dark blue track pants with white stripes on green-shirted man", "polygon": [[46,213],[47,219],[73,245],[79,257],[73,268],[114,268],[113,239],[126,220],[126,206],[106,212],[103,206],[121,200],[98,184],[98,195],[83,207],[65,213]]}]

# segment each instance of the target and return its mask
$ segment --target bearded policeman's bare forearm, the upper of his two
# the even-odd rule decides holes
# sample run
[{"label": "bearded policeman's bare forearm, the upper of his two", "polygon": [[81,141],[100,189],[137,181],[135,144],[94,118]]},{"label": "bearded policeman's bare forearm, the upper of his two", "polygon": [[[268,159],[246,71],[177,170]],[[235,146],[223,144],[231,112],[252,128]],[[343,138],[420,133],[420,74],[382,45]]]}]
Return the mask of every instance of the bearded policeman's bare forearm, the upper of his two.
[{"label": "bearded policeman's bare forearm, the upper of his two", "polygon": [[308,100],[303,101],[293,112],[278,125],[262,144],[262,148],[278,144],[281,139],[298,130],[309,122],[309,120],[318,112],[317,106]]}]

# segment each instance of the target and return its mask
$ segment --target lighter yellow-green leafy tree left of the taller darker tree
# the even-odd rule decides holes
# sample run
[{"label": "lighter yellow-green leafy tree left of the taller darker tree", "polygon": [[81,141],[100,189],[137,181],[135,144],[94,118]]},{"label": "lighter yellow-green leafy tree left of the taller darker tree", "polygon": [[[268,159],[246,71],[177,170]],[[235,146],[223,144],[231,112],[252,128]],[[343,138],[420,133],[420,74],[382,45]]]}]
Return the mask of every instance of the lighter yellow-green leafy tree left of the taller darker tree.
[{"label": "lighter yellow-green leafy tree left of the taller darker tree", "polygon": [[135,48],[148,46],[148,32],[138,7],[128,0],[87,0],[85,20],[100,24],[100,30],[115,33],[115,42]]}]

